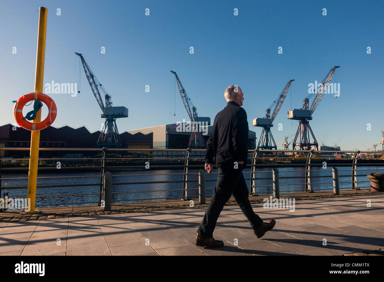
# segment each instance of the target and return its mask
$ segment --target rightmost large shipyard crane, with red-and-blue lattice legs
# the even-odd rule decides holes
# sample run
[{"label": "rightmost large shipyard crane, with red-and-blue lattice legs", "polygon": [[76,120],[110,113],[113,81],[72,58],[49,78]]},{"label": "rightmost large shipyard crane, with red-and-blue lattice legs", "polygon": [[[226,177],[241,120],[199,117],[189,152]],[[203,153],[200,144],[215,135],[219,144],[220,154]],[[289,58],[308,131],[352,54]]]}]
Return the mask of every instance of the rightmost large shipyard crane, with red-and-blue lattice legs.
[{"label": "rightmost large shipyard crane, with red-and-blue lattice legs", "polygon": [[[319,149],[318,142],[314,137],[313,131],[310,127],[309,120],[312,120],[312,114],[316,107],[319,105],[321,99],[326,92],[329,82],[332,79],[332,76],[337,68],[340,66],[334,66],[327,76],[321,82],[321,86],[318,89],[316,97],[312,102],[311,108],[308,109],[309,99],[313,96],[314,93],[309,94],[304,100],[303,107],[301,109],[292,109],[288,111],[288,119],[299,120],[299,127],[296,131],[295,139],[293,141],[293,150],[296,150],[296,146],[299,146],[299,150],[311,150],[311,147],[314,146],[316,150]],[[310,138],[312,137],[313,142],[311,143]]]}]

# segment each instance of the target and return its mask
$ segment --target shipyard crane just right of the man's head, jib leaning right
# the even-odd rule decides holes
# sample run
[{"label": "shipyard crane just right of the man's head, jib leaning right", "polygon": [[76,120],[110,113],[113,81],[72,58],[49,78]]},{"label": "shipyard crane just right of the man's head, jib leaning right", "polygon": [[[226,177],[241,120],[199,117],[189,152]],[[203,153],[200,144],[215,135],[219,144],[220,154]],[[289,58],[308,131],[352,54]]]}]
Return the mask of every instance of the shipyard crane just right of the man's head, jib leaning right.
[{"label": "shipyard crane just right of the man's head, jib leaning right", "polygon": [[[253,126],[263,127],[262,134],[260,135],[260,139],[257,144],[258,149],[277,150],[275,139],[273,139],[273,135],[271,133],[271,127],[273,127],[273,124],[272,124],[273,120],[275,120],[276,115],[278,114],[281,106],[283,105],[285,97],[287,96],[287,93],[288,93],[288,89],[291,85],[291,82],[294,80],[295,79],[291,79],[290,81],[287,82],[283,91],[281,91],[280,95],[275,99],[275,101],[273,101],[271,106],[268,109],[266,109],[265,118],[253,119]],[[271,116],[271,109],[275,104],[276,106]]]}]

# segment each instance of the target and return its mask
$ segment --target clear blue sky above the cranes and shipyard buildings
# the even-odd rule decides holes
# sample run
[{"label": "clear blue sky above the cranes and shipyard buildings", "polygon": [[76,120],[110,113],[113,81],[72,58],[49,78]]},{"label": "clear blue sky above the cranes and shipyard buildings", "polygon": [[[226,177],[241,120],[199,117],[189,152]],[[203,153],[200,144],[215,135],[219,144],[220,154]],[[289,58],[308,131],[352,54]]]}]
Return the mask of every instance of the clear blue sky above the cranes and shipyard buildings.
[{"label": "clear blue sky above the cranes and shipyard buildings", "polygon": [[[364,149],[381,141],[384,89],[384,0],[367,1],[5,1],[0,3],[0,124],[15,123],[12,100],[33,92],[39,7],[48,8],[44,83],[73,83],[74,52],[82,53],[129,117],[120,132],[187,119],[180,95],[171,108],[170,70],[179,74],[200,116],[212,121],[225,88],[242,87],[248,124],[295,79],[272,129],[278,148],[294,134],[287,111],[300,108],[308,83],[336,65],[340,96],[325,94],[310,125],[318,142]],[[56,9],[61,15],[56,15]],[[145,15],[145,9],[150,15]],[[233,9],[238,8],[238,16]],[[327,9],[323,16],[322,9]],[[12,47],[17,54],[12,54]],[[106,53],[101,54],[101,47]],[[189,47],[194,47],[194,54]],[[283,54],[278,54],[278,47]],[[367,54],[367,46],[371,54]],[[53,124],[100,129],[103,119],[82,71],[81,93],[51,94]],[[76,71],[77,73],[77,71]],[[332,79],[332,82],[336,76]],[[150,92],[145,92],[145,86]],[[292,94],[292,96],[291,96]],[[311,103],[312,101],[310,101]],[[44,115],[44,111],[43,111]],[[283,124],[278,131],[277,125]],[[367,131],[367,123],[371,131]],[[292,137],[290,138],[292,139]]]}]

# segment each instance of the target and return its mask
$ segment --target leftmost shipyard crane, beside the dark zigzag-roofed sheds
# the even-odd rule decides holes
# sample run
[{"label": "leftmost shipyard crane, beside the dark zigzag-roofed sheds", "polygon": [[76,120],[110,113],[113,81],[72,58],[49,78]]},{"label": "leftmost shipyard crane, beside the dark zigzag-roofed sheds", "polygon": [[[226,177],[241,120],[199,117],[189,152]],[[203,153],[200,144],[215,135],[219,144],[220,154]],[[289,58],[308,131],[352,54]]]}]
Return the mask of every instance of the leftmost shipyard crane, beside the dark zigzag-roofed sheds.
[{"label": "leftmost shipyard crane, beside the dark zigzag-roofed sheds", "polygon": [[[75,54],[78,55],[81,59],[81,63],[83,64],[83,68],[88,79],[89,85],[91,86],[93,95],[95,96],[96,101],[98,102],[100,109],[103,112],[101,114],[101,117],[105,119],[104,126],[97,141],[97,147],[120,148],[121,140],[118,127],[116,125],[116,119],[121,117],[128,117],[128,109],[126,107],[112,106],[111,96],[108,95],[104,87],[93,74],[91,68],[89,68],[88,64],[84,60],[83,55],[76,52]],[[104,93],[105,106],[99,90]]]}]

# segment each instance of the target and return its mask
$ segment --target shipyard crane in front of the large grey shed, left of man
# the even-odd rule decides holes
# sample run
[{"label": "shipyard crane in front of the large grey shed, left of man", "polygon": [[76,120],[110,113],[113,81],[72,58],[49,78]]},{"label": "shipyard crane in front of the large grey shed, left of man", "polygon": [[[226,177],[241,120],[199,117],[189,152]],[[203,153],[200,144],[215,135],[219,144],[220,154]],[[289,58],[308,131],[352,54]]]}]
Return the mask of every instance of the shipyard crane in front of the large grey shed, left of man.
[{"label": "shipyard crane in front of the large grey shed, left of man", "polygon": [[[200,127],[200,124],[210,125],[211,119],[209,117],[199,117],[199,115],[197,114],[196,107],[192,103],[191,99],[187,95],[187,92],[185,92],[183,85],[181,84],[179,76],[177,76],[176,72],[174,71],[170,71],[170,72],[175,75],[177,86],[179,87],[181,99],[183,100],[185,110],[187,110],[187,114],[192,123],[192,133],[189,138],[188,147],[192,146],[196,148],[205,148],[206,147],[205,141],[204,141],[203,135],[201,134],[201,130],[199,130],[199,127]],[[196,134],[196,132],[198,132],[198,134]],[[194,145],[193,145],[193,141],[195,141]]]}]

